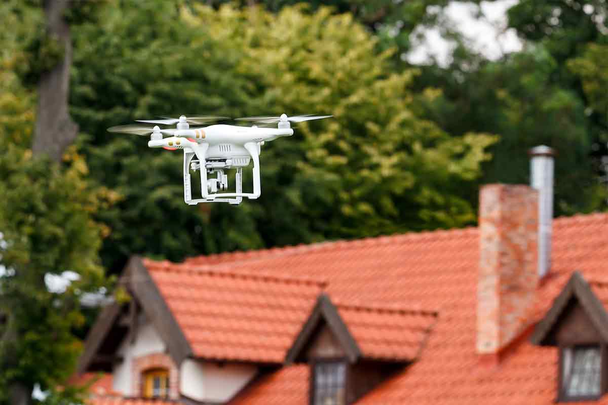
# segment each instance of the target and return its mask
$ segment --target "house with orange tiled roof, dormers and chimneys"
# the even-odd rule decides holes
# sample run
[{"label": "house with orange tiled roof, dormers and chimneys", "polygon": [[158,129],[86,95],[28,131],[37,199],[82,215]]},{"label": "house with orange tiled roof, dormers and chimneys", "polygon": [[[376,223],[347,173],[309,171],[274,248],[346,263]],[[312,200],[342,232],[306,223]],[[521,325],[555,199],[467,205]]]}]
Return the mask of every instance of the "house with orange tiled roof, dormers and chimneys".
[{"label": "house with orange tiled roof, dormers and chimneys", "polygon": [[608,403],[608,214],[552,220],[550,149],[531,168],[478,228],[133,257],[91,405]]}]

